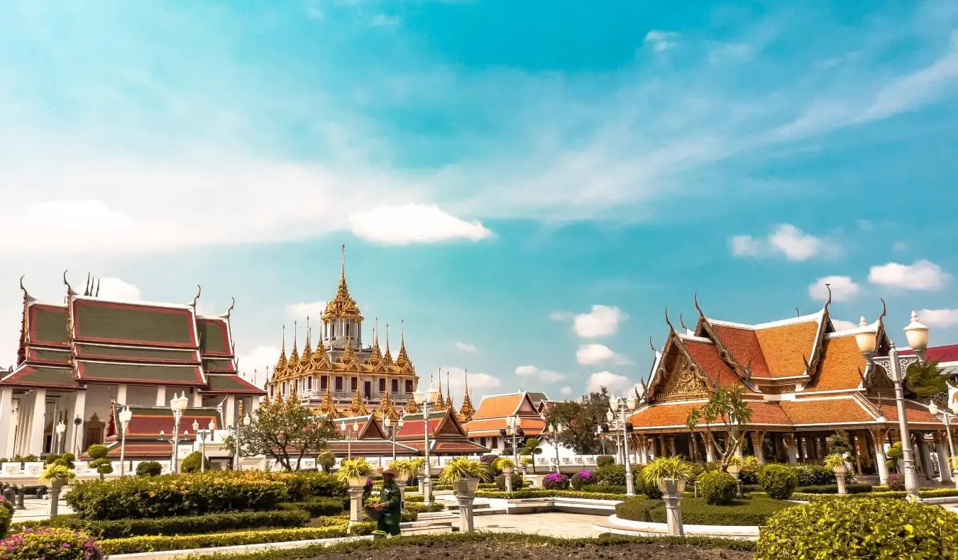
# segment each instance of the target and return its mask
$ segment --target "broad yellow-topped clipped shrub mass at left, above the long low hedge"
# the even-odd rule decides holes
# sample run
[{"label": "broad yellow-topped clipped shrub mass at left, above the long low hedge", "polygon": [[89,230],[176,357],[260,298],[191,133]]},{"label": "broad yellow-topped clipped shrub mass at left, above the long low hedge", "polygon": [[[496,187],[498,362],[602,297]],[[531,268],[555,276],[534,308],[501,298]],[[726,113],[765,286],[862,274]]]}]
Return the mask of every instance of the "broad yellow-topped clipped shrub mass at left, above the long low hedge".
[{"label": "broad yellow-topped clipped shrub mass at left, above the long low hedge", "polygon": [[262,473],[208,471],[79,482],[65,500],[83,519],[107,520],[274,509],[287,497]]}]

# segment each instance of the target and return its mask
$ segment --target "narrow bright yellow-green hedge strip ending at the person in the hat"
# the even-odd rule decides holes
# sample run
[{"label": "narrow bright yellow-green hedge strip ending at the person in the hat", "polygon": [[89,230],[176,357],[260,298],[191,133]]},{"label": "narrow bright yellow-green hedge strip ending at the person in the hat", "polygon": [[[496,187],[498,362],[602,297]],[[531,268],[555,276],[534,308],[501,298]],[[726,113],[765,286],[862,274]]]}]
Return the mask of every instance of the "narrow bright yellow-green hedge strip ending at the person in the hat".
[{"label": "narrow bright yellow-green hedge strip ending at the person in the hat", "polygon": [[[106,539],[100,547],[106,554],[134,554],[165,550],[211,549],[264,543],[287,543],[311,539],[332,539],[347,536],[347,522],[334,526],[281,528],[255,531],[210,533],[203,535],[139,536],[125,539]],[[351,535],[369,535],[375,525],[360,523],[349,531]]]}]

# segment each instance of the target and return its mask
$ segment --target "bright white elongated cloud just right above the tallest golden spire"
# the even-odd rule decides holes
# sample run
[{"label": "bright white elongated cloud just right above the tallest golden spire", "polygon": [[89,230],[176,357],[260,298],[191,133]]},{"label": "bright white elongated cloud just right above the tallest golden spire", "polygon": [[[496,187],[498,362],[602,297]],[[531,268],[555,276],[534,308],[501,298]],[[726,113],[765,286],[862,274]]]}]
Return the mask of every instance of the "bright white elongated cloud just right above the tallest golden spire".
[{"label": "bright white elongated cloud just right above the tallest golden spire", "polygon": [[479,221],[468,222],[435,205],[384,206],[354,213],[350,229],[364,239],[392,245],[436,243],[452,239],[481,241],[492,236]]}]

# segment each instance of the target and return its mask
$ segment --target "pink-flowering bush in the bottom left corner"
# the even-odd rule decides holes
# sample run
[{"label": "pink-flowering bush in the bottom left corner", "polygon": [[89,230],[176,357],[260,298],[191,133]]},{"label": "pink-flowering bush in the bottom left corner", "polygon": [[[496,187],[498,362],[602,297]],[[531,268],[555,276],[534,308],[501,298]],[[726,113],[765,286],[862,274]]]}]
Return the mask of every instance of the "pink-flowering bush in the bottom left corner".
[{"label": "pink-flowering bush in the bottom left corner", "polygon": [[26,529],[0,541],[3,560],[103,560],[89,535],[63,528]]}]

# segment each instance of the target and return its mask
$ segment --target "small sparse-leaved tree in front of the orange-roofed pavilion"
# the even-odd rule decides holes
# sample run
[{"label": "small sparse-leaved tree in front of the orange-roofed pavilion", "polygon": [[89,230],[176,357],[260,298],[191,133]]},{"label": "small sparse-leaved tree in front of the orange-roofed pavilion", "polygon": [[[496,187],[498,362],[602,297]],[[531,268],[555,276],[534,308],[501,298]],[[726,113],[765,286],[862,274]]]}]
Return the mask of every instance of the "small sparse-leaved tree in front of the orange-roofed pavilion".
[{"label": "small sparse-leaved tree in front of the orange-roofed pavilion", "polygon": [[[719,451],[720,469],[723,472],[728,468],[729,459],[741,447],[745,437],[743,427],[752,419],[752,409],[748,408],[744,394],[745,390],[741,385],[731,389],[719,387],[709,395],[709,402],[704,407],[689,411],[685,420],[689,430],[701,426],[705,431],[706,437]],[[723,432],[724,437],[719,438],[717,431]]]}]

